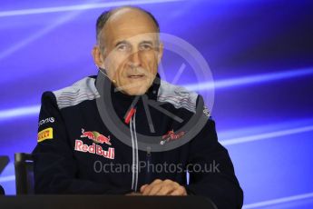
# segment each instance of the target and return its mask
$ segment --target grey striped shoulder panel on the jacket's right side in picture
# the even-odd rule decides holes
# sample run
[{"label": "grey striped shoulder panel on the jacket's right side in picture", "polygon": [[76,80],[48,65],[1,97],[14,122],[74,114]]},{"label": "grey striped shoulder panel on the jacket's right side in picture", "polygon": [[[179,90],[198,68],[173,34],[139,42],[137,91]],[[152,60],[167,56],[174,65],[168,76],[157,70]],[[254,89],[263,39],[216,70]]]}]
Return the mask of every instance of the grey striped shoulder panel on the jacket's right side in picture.
[{"label": "grey striped shoulder panel on the jacket's right side in picture", "polygon": [[157,97],[158,102],[170,103],[175,108],[185,108],[192,113],[196,113],[197,98],[197,93],[161,80]]}]

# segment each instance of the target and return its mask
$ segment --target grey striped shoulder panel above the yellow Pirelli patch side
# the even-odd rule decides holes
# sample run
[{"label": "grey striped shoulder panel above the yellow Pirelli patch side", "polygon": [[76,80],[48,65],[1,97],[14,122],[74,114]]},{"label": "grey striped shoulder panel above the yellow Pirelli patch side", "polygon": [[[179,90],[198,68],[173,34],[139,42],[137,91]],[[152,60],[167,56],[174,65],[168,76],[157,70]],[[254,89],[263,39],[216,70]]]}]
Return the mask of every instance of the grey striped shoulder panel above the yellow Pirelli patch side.
[{"label": "grey striped shoulder panel above the yellow Pirelli patch side", "polygon": [[73,85],[54,91],[56,104],[59,109],[80,104],[86,100],[100,97],[95,85],[95,78],[85,77]]}]

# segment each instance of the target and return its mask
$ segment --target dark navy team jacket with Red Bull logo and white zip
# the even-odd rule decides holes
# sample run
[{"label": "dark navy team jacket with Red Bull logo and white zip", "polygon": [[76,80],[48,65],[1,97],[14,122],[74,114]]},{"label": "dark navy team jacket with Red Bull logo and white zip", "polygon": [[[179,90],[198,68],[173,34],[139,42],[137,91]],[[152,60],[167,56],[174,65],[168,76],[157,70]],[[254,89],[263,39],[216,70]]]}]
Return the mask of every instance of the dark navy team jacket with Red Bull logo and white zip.
[{"label": "dark navy team jacket with Red Bull logo and white zip", "polygon": [[[116,91],[108,79],[111,98],[100,95],[98,78],[85,77],[43,94],[33,151],[36,194],[128,194],[155,179],[171,179],[185,186],[188,194],[209,197],[218,208],[241,208],[243,193],[228,151],[218,142],[208,109],[203,104],[197,108],[201,95],[161,81],[157,75],[159,82],[155,80],[145,94],[158,104],[155,107],[146,105],[142,96],[136,100]],[[108,127],[97,99],[110,100],[119,122],[114,125],[127,130],[129,139],[124,140],[129,144]],[[205,123],[188,140],[196,127],[185,130],[184,126],[196,113]],[[138,134],[154,145],[141,148]],[[177,142],[184,143],[166,149]],[[156,146],[163,152],[154,152]]]}]

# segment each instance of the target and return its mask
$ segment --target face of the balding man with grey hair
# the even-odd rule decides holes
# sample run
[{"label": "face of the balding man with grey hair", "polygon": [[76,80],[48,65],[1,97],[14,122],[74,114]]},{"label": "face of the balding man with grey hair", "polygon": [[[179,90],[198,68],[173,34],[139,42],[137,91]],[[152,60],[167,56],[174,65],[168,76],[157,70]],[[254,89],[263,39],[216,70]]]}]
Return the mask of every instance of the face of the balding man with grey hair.
[{"label": "face of the balding man with grey hair", "polygon": [[118,11],[104,25],[100,38],[103,67],[114,85],[127,95],[143,95],[152,85],[162,55],[152,19],[139,11]]}]

